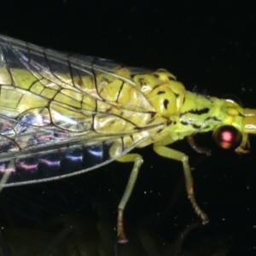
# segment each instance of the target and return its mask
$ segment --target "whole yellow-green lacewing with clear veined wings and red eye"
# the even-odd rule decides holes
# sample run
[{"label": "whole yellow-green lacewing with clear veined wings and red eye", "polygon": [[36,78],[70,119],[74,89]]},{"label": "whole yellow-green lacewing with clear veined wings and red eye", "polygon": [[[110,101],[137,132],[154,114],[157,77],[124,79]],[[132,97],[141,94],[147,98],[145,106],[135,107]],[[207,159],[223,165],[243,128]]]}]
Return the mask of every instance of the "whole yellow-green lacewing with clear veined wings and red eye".
[{"label": "whole yellow-green lacewing with clear veined wings and red eye", "polygon": [[230,99],[185,90],[172,73],[123,67],[100,58],[67,55],[0,36],[0,175],[2,188],[89,172],[113,160],[134,166],[119,202],[117,233],[125,242],[123,212],[143,164],[133,148],[153,144],[183,165],[195,201],[189,157],[169,147],[213,131],[222,148],[248,152],[256,110]]}]

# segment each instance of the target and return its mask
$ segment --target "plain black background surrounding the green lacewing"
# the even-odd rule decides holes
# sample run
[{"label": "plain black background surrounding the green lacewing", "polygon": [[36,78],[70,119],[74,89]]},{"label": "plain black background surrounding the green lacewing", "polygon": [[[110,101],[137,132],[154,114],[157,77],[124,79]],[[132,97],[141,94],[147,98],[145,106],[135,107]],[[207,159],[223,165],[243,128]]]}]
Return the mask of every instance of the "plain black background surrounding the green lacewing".
[{"label": "plain black background surrounding the green lacewing", "polygon": [[[234,94],[245,107],[256,108],[256,16],[247,2],[9,1],[0,8],[3,35],[121,61],[126,66],[164,67],[187,90],[196,87],[211,96]],[[215,148],[211,135],[201,135],[198,140],[212,148],[212,156],[196,154],[185,141],[173,147],[188,154],[195,166],[195,196],[211,222],[188,231],[182,250],[188,255],[254,255],[256,140],[252,136],[252,152],[242,157]],[[151,147],[140,152],[144,164],[125,212],[128,245],[112,251],[115,209],[131,172],[131,165],[117,163],[67,180],[4,189],[0,245],[8,251],[21,240],[24,250],[32,252],[30,243],[26,245],[22,239],[33,230],[27,241],[41,242],[50,251],[56,236],[66,234],[64,223],[67,234],[59,240],[62,248],[69,243],[72,247],[74,241],[80,252],[90,247],[88,255],[100,255],[92,253],[99,250],[96,240],[86,243],[86,237],[101,236],[108,247],[105,255],[181,255],[181,247],[168,249],[180,241],[186,226],[199,221],[183,188],[182,166],[161,159]],[[103,236],[106,223],[110,231]],[[79,231],[68,231],[71,225]],[[138,230],[147,232],[142,235]],[[130,253],[122,254],[125,247]],[[67,254],[44,250],[44,255],[73,255],[67,249]]]}]

